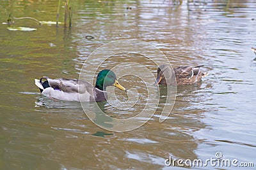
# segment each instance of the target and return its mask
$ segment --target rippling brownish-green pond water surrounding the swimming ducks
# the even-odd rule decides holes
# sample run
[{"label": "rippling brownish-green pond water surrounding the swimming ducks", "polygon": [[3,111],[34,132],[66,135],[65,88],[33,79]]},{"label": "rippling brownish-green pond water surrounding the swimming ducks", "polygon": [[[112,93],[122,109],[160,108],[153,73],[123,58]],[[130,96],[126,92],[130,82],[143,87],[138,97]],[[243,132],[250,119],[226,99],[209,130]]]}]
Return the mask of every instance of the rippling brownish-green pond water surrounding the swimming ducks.
[{"label": "rippling brownish-green pond water surrounding the swimming ducks", "polygon": [[[1,22],[6,22],[6,11],[14,17],[55,20],[56,6],[55,1],[4,1]],[[169,156],[206,160],[216,158],[216,152],[223,159],[256,166],[256,64],[250,50],[256,46],[254,1],[207,1],[189,6],[185,1],[181,6],[168,1],[77,1],[73,8],[71,29],[39,26],[29,20],[15,25],[37,31],[0,27],[0,169],[171,169],[164,165]],[[109,132],[93,124],[80,103],[47,99],[36,89],[34,78],[78,78],[90,53],[125,38],[152,43],[173,67],[205,64],[203,70],[209,72],[202,83],[178,87],[172,114],[163,123],[158,121],[160,103],[142,127]],[[156,74],[154,63],[127,53],[109,58],[101,68],[131,60]],[[136,114],[145,104],[147,91],[139,79],[127,76],[121,81],[125,87],[138,89],[140,102],[130,111],[99,103],[111,117]],[[166,89],[160,89],[164,101]],[[125,101],[124,93],[116,93]],[[88,103],[88,108],[93,107]],[[99,121],[108,122],[98,116]],[[186,167],[175,167],[179,168]],[[192,167],[219,168],[235,167]]]}]

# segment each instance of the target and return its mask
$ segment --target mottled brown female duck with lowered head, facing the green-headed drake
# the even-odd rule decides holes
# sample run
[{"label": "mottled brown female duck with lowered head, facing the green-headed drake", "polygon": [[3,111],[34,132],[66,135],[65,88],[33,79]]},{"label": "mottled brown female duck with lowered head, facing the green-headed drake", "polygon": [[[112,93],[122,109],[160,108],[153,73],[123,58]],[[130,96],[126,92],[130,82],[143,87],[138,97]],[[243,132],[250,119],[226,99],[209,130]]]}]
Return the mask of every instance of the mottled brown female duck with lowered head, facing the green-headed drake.
[{"label": "mottled brown female duck with lowered head, facing the green-headed drake", "polygon": [[[200,81],[201,78],[204,78],[208,75],[208,73],[201,72],[200,67],[202,66],[181,66],[173,69],[175,73],[176,84],[189,85]],[[155,84],[175,85],[174,76],[172,73],[172,68],[170,66],[166,64],[159,66],[157,69],[157,79]]]}]

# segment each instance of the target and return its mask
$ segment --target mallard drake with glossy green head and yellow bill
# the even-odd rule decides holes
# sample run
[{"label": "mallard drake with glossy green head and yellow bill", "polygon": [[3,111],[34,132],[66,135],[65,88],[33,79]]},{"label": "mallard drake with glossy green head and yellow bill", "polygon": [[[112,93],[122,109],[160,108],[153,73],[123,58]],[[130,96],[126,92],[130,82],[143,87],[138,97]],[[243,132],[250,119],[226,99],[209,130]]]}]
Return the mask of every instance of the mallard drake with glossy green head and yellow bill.
[{"label": "mallard drake with glossy green head and yellow bill", "polygon": [[51,79],[45,76],[40,80],[35,79],[35,84],[42,95],[62,101],[80,101],[79,97],[81,101],[106,101],[108,99],[106,87],[112,85],[126,91],[116,80],[116,74],[109,69],[100,71],[95,87],[87,81]]}]

